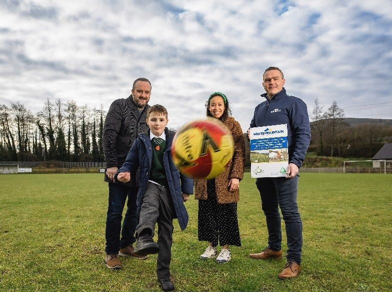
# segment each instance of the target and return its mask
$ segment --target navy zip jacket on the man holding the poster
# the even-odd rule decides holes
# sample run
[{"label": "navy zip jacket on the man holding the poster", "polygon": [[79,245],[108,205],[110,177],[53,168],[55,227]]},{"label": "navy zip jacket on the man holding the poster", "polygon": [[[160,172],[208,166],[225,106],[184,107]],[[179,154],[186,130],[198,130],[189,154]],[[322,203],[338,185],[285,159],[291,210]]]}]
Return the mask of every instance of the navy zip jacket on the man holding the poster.
[{"label": "navy zip jacket on the man holding the poster", "polygon": [[310,123],[306,104],[295,96],[286,94],[283,88],[254,109],[250,128],[287,124],[288,162],[298,168],[302,166],[306,149],[310,143]]}]

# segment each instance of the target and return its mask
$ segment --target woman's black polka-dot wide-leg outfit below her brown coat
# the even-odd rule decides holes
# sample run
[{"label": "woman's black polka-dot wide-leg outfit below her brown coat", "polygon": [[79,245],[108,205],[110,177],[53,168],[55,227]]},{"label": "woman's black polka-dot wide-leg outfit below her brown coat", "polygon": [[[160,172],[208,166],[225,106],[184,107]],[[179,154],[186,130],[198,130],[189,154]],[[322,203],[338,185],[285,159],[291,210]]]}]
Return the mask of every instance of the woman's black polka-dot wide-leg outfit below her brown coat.
[{"label": "woman's black polka-dot wide-leg outfit below her brown coat", "polygon": [[216,202],[215,179],[207,180],[207,200],[198,200],[198,240],[218,245],[241,246],[237,203]]}]

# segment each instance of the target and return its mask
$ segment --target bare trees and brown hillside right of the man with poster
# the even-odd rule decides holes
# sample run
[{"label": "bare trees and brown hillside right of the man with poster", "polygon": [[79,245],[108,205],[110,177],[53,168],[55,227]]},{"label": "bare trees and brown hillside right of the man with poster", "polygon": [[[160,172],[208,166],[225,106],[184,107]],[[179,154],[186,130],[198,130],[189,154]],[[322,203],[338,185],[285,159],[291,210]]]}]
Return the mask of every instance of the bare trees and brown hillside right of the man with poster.
[{"label": "bare trees and brown hillside right of the man with poster", "polygon": [[344,116],[336,101],[324,110],[315,99],[310,113],[312,138],[308,151],[319,156],[373,157],[385,143],[392,142],[392,126],[350,125]]}]

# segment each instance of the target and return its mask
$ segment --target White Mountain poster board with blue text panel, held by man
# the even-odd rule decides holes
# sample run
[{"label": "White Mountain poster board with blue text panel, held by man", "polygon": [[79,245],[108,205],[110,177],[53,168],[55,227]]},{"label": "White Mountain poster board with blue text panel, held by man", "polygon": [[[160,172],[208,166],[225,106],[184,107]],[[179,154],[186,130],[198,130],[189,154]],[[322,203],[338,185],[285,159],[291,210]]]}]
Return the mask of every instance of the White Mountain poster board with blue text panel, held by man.
[{"label": "White Mountain poster board with blue text panel, held by man", "polygon": [[288,167],[287,124],[250,128],[251,177],[285,177]]}]

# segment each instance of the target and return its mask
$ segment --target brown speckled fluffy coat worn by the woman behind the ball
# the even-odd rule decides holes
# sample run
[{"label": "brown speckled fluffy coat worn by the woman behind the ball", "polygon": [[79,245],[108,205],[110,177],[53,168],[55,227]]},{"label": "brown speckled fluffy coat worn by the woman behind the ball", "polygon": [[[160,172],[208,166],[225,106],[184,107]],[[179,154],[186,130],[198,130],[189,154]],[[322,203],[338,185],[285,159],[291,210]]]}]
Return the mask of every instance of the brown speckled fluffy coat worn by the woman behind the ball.
[{"label": "brown speckled fluffy coat worn by the woman behind the ball", "polygon": [[[227,187],[230,179],[243,178],[245,165],[245,140],[241,126],[233,117],[227,117],[223,124],[230,131],[234,141],[234,154],[228,167],[215,178],[215,192],[218,204],[235,203],[239,201],[239,190],[229,191]],[[207,181],[203,179],[194,180],[194,198],[196,200],[207,199]]]}]

